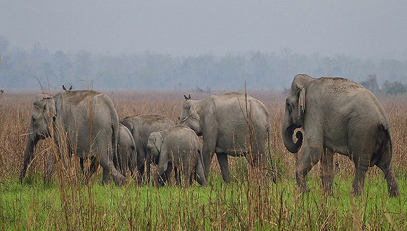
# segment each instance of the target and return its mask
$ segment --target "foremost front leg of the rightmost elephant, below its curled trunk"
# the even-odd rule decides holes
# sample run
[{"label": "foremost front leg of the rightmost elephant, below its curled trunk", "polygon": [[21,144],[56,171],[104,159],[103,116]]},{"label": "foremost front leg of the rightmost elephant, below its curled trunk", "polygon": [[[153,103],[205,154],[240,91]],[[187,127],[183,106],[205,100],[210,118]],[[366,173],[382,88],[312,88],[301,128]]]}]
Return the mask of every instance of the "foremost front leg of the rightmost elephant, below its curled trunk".
[{"label": "foremost front leg of the rightmost elephant, below its curled trunk", "polygon": [[322,153],[322,146],[304,146],[300,160],[298,160],[297,170],[295,172],[295,179],[297,180],[298,193],[307,193],[309,188],[305,181],[309,170],[319,162]]}]

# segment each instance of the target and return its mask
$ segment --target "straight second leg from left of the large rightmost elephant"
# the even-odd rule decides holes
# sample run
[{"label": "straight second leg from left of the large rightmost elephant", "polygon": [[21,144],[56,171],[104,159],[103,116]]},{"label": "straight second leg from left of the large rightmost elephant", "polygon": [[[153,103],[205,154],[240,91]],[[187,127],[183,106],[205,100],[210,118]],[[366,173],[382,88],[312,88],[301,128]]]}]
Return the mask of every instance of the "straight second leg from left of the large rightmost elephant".
[{"label": "straight second leg from left of the large rightmost elephant", "polygon": [[321,155],[321,181],[323,192],[326,195],[332,195],[333,150],[331,148],[323,148]]}]

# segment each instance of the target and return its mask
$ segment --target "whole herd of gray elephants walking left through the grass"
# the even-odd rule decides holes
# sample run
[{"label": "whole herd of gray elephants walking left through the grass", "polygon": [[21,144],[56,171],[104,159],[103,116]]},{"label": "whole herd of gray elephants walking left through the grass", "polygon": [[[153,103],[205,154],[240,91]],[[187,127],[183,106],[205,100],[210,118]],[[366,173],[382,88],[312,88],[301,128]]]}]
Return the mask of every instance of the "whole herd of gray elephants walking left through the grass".
[{"label": "whole herd of gray elephants walking left through the grass", "polygon": [[[148,182],[152,163],[159,186],[170,181],[172,170],[177,184],[189,186],[195,179],[206,186],[215,153],[223,180],[231,183],[228,155],[245,156],[249,167],[274,170],[269,120],[262,102],[236,92],[199,100],[185,96],[176,125],[155,114],[119,119],[112,100],[93,90],[39,94],[34,99],[20,182],[36,143],[52,137],[60,151],[56,156],[65,166],[69,157],[64,155],[76,153],[82,170],[84,160],[92,161],[90,174],[102,166],[102,183],[112,176],[117,185],[123,185],[127,169],[138,184]],[[389,119],[374,94],[359,83],[296,75],[282,124],[287,150],[298,153],[302,147],[295,171],[298,193],[309,190],[305,176],[321,161],[323,191],[331,195],[333,153],[339,153],[354,162],[354,195],[363,193],[366,171],[373,165],[384,173],[389,196],[399,195]],[[46,179],[55,164],[54,155],[50,157]],[[276,182],[275,173],[271,179]]]}]

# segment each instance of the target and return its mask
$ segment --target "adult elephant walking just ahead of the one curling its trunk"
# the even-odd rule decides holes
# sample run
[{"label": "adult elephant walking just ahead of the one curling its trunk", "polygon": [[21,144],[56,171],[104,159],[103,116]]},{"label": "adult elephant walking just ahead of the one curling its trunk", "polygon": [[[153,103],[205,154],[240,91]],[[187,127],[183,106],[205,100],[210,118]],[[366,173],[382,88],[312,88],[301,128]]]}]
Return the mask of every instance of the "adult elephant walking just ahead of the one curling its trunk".
[{"label": "adult elephant walking just ahead of the one curling its trunk", "polygon": [[[253,166],[265,167],[267,162],[266,142],[270,144],[269,112],[262,102],[236,92],[211,95],[204,99],[192,100],[185,97],[181,125],[186,125],[202,136],[204,144],[205,177],[208,179],[213,153],[216,153],[223,180],[231,183],[227,155],[246,156]],[[247,105],[247,109],[246,109]],[[248,116],[250,114],[250,116]],[[248,118],[253,128],[253,158],[248,158]],[[268,149],[268,152],[270,150]],[[273,168],[272,158],[269,161]],[[275,176],[273,176],[275,182]]]}]

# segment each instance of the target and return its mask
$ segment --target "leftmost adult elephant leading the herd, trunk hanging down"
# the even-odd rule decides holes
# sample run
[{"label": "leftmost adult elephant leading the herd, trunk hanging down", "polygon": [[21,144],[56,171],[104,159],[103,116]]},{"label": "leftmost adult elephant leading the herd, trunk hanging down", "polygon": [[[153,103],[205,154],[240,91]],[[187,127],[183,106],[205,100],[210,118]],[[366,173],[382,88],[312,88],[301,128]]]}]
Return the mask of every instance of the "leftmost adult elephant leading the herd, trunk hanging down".
[{"label": "leftmost adult elephant leading the herd, trunk hanging down", "polygon": [[[119,118],[106,94],[93,90],[61,91],[52,96],[38,94],[34,99],[20,182],[34,146],[39,139],[52,134],[55,144],[62,150],[58,155],[65,166],[65,159],[69,160],[70,155],[76,153],[82,163],[83,159],[89,158],[95,161],[94,166],[100,164],[103,167],[102,183],[108,183],[109,174],[112,174],[117,185],[124,184],[125,177],[113,163],[118,132]],[[69,156],[65,157],[67,153]],[[55,165],[53,156],[51,154],[48,161],[46,179],[50,178]]]}]

